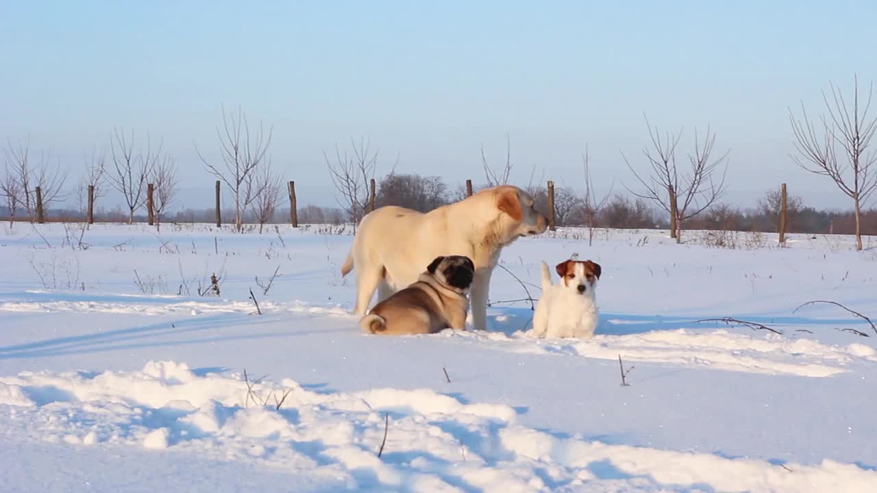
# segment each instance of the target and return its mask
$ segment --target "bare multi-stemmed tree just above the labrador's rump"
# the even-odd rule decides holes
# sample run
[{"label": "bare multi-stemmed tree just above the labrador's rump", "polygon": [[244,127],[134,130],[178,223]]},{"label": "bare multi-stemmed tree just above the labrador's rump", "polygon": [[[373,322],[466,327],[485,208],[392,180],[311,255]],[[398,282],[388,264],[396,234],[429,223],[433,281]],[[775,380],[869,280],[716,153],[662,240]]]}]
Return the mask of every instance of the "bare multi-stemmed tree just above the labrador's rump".
[{"label": "bare multi-stemmed tree just above the labrador's rump", "polygon": [[326,168],[329,168],[332,184],[341,194],[338,199],[339,205],[350,215],[355,230],[368,207],[369,182],[374,178],[378,151],[372,151],[371,140],[360,139],[357,145],[353,139],[350,139],[350,145],[352,154],[348,154],[346,149],[342,153],[338,144],[335,145],[334,163],[329,160],[325,150],[323,157]]}]

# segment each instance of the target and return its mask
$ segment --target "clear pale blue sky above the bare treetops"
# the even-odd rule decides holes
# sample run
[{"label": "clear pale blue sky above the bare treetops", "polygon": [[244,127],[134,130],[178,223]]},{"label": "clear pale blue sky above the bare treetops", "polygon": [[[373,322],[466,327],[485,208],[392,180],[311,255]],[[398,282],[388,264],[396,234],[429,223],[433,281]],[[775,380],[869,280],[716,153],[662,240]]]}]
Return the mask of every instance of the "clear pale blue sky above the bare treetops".
[{"label": "clear pale blue sky above the bare treetops", "polygon": [[[727,200],[788,182],[845,206],[796,168],[787,107],[877,78],[877,3],[830,2],[0,2],[0,138],[51,148],[79,173],[114,125],[164,139],[183,184],[209,194],[193,143],[215,154],[220,104],[274,125],[275,167],[305,202],[332,204],[322,150],[371,139],[386,171],[481,178],[480,146],[511,141],[531,168],[579,187],[631,187],[643,113],[707,124],[731,149]],[[379,169],[379,171],[381,170]],[[71,180],[72,182],[72,180]],[[827,190],[824,191],[824,190]],[[195,200],[195,199],[190,199]],[[185,204],[209,206],[209,199]]]}]

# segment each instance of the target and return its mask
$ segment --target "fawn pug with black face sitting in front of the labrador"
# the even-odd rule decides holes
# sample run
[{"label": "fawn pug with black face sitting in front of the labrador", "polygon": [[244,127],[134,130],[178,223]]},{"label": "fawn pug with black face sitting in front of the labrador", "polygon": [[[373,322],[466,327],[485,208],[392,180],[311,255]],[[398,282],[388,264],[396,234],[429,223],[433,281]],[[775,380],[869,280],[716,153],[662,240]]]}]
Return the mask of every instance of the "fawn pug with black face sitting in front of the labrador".
[{"label": "fawn pug with black face sitting in front of the labrador", "polygon": [[363,332],[428,334],[448,327],[466,330],[469,286],[475,267],[463,255],[436,257],[417,282],[374,305],[360,319]]}]

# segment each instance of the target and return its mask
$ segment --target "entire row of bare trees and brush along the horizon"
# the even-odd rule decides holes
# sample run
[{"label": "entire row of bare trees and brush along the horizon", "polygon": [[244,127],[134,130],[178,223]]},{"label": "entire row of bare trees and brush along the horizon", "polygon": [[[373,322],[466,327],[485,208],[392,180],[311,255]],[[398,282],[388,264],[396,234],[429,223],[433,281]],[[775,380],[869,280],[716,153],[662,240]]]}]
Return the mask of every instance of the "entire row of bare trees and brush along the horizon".
[{"label": "entire row of bare trees and brush along the horizon", "polygon": [[[873,209],[877,190],[877,117],[870,112],[872,84],[859,87],[854,79],[852,95],[844,96],[830,84],[823,93],[827,115],[809,118],[802,106],[797,114],[788,111],[793,131],[793,160],[804,170],[823,175],[833,187],[850,199],[848,211],[817,211],[804,204],[802,197],[789,196],[787,232],[856,234],[857,249],[863,248],[861,235],[877,234],[877,210]],[[645,115],[644,115],[645,117]],[[725,176],[730,149],[717,146],[717,132],[707,125],[705,132],[659,131],[645,118],[647,139],[638,154],[622,158],[632,177],[626,194],[613,192],[615,182],[598,196],[588,166],[588,151],[582,155],[583,190],[561,186],[549,189],[545,176],[531,172],[523,188],[533,196],[539,210],[548,211],[553,193],[553,218],[557,226],[584,226],[593,239],[595,228],[662,228],[681,241],[685,229],[776,232],[780,225],[781,197],[778,190],[766,191],[752,208],[740,209],[723,202],[727,189]],[[212,153],[196,146],[204,171],[230,194],[231,204],[221,204],[222,219],[238,231],[245,223],[264,225],[290,220],[286,182],[275,173],[270,146],[273,127],[248,122],[246,114],[222,108],[221,125],[216,128]],[[684,137],[684,139],[683,139]],[[204,152],[203,152],[204,151]],[[349,146],[335,145],[324,150],[328,175],[337,194],[338,207],[306,205],[297,208],[302,224],[353,223],[374,207],[398,205],[416,211],[431,211],[465,198],[478,189],[510,183],[511,142],[506,139],[503,160],[488,159],[481,146],[483,180],[450,185],[439,176],[396,172],[377,173],[379,149],[368,139],[350,139]],[[83,156],[83,173],[75,187],[66,187],[67,173],[61,161],[48,151],[33,152],[30,140],[0,144],[0,217],[7,220],[49,221],[83,220],[93,205],[95,220],[127,222],[143,220],[149,209],[160,222],[214,222],[215,208],[172,211],[179,196],[177,166],[173,155],[163,149],[161,139],[149,134],[114,128],[109,135],[109,153],[92,151]],[[630,159],[628,157],[630,155]],[[453,188],[452,188],[453,187]],[[99,200],[108,189],[124,198],[122,205],[107,210]],[[149,194],[149,190],[153,194]],[[68,196],[78,209],[63,210]],[[147,207],[146,204],[151,205]],[[226,206],[229,207],[226,207]],[[232,207],[233,206],[233,207]]]}]

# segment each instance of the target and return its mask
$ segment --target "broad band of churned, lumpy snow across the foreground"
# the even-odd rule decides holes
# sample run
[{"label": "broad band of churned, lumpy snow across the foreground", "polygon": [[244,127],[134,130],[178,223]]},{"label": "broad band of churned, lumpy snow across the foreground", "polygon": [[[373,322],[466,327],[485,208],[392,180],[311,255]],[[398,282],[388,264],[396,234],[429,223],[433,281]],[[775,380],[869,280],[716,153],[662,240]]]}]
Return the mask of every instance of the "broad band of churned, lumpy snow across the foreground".
[{"label": "broad band of churned, lumpy snow across the foreground", "polygon": [[509,406],[429,389],[313,391],[174,361],[0,377],[0,412],[28,423],[32,439],[253,461],[350,489],[801,493],[877,484],[877,472],[834,461],[777,465],[554,435],[517,425]]}]

